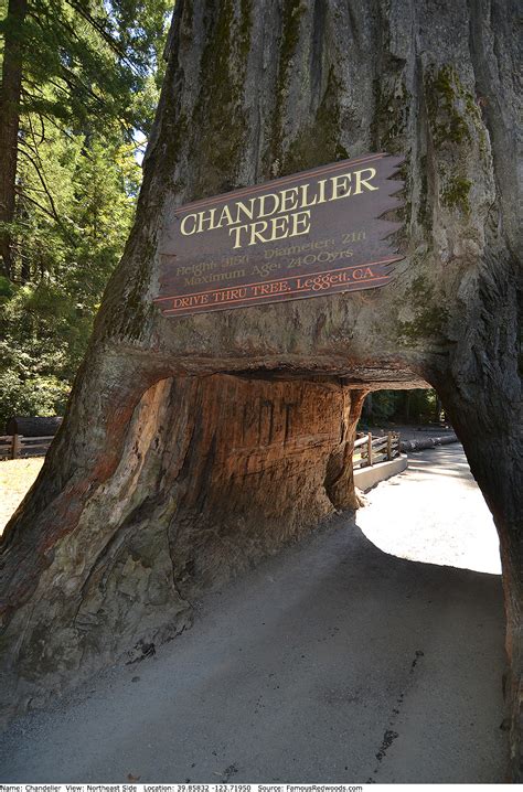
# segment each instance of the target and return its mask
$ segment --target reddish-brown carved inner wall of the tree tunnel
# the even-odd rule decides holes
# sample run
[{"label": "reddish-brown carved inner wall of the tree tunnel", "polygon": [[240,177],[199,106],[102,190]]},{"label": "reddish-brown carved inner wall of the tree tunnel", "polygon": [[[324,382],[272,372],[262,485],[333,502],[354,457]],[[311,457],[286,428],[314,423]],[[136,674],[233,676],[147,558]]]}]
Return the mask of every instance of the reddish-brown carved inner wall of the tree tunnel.
[{"label": "reddish-brown carved inner wall of the tree tunnel", "polygon": [[171,528],[184,591],[230,577],[332,513],[325,478],[351,405],[333,382],[216,375],[189,388],[194,422]]}]

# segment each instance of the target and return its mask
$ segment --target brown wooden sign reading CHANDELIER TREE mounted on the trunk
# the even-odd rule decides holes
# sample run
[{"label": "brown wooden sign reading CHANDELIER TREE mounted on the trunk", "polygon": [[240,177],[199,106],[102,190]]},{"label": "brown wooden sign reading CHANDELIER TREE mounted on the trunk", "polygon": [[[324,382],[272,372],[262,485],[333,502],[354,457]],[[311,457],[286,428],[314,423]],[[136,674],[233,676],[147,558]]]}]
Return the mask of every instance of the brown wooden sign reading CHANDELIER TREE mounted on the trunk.
[{"label": "brown wooden sign reading CHANDELIER TREE mounted on the trunk", "polygon": [[374,289],[403,256],[382,215],[402,158],[367,154],[180,206],[160,247],[163,315]]}]

